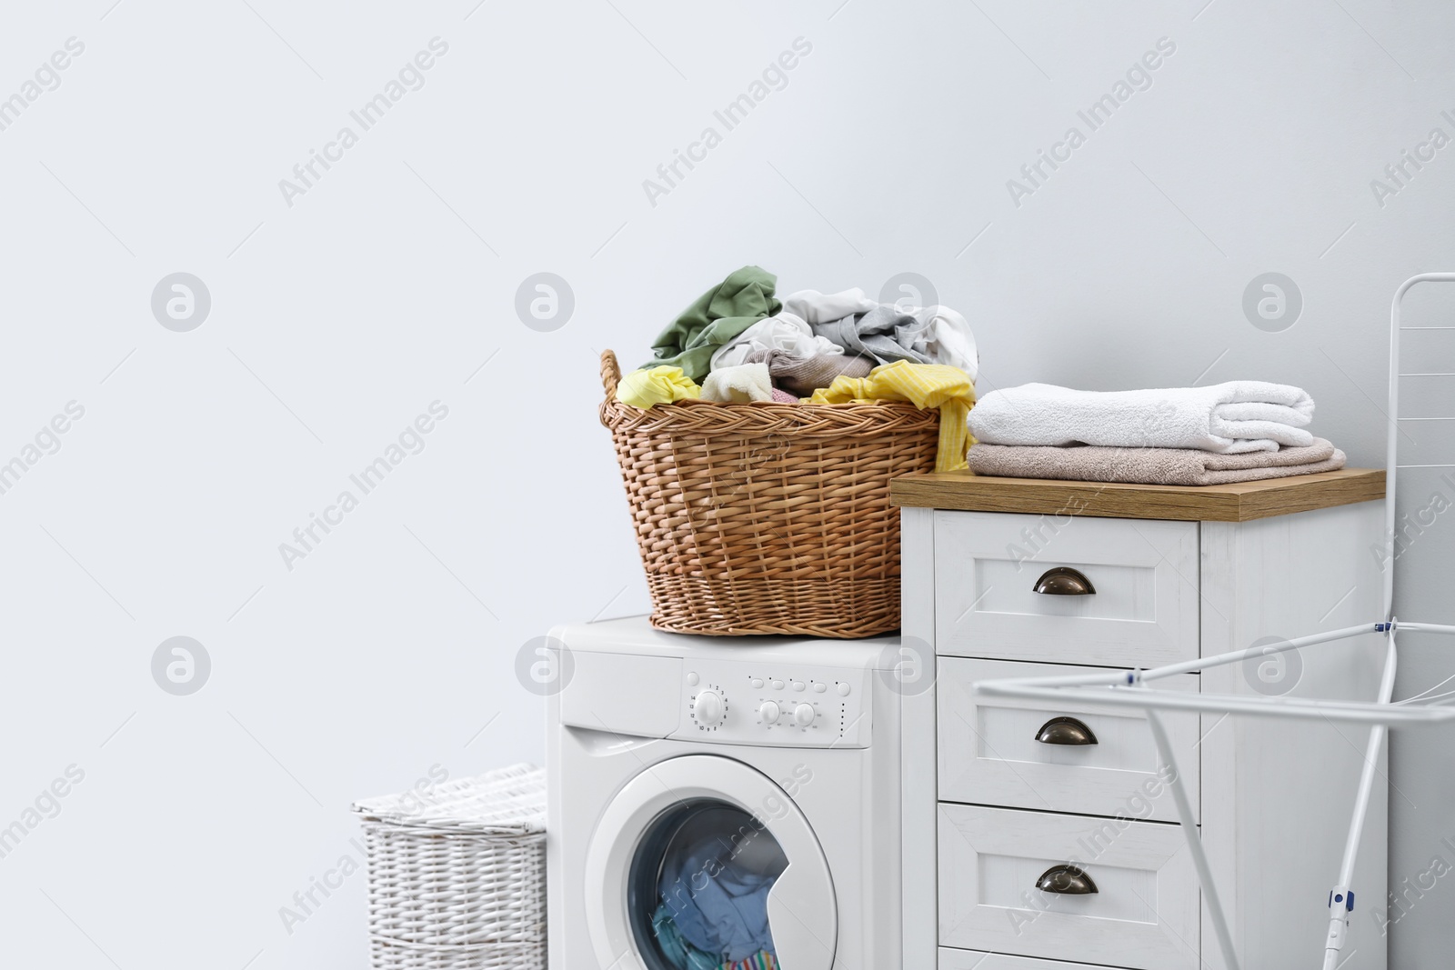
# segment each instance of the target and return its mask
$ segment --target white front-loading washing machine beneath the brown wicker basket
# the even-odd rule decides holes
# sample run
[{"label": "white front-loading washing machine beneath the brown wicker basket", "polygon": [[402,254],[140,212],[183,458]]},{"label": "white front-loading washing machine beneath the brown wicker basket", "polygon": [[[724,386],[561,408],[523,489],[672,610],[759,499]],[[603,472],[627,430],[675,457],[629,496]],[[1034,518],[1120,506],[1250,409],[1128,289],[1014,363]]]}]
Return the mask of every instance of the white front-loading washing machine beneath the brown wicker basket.
[{"label": "white front-loading washing machine beneath the brown wicker basket", "polygon": [[901,966],[898,638],[547,638],[551,970]]}]

